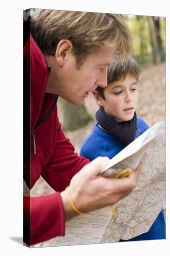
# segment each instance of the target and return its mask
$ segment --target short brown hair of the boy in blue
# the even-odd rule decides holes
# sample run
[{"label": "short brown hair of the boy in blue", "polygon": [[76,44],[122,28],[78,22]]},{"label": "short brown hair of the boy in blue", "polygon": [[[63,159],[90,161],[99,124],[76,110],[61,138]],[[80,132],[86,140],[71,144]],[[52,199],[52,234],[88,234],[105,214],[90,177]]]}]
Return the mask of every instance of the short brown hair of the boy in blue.
[{"label": "short brown hair of the boy in blue", "polygon": [[[132,77],[138,80],[140,73],[139,66],[137,61],[133,57],[128,56],[124,62],[122,61],[113,61],[111,66],[107,71],[107,83],[116,82],[119,80],[124,80],[127,74],[130,74]],[[97,87],[96,91],[99,96],[105,100],[104,89],[102,87]]]}]

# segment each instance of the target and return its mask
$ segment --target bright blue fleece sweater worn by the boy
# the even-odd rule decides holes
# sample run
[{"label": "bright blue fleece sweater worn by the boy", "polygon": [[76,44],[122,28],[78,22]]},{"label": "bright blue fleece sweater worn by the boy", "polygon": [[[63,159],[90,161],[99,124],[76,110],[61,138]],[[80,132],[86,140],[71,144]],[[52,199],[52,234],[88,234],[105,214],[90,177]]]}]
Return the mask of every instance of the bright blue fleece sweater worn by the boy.
[{"label": "bright blue fleece sweater worn by the boy", "polygon": [[[149,128],[145,121],[137,117],[137,130],[135,139],[144,133]],[[92,161],[98,156],[107,156],[110,159],[117,155],[124,145],[119,143],[110,134],[99,128],[98,123],[93,126],[92,132],[85,138],[80,148],[80,155]],[[164,239],[165,238],[165,221],[163,216],[163,209],[157,216],[157,219],[152,224],[150,230],[140,236],[133,237],[126,241],[137,240],[151,240],[151,239]],[[125,240],[120,240],[123,242]]]}]

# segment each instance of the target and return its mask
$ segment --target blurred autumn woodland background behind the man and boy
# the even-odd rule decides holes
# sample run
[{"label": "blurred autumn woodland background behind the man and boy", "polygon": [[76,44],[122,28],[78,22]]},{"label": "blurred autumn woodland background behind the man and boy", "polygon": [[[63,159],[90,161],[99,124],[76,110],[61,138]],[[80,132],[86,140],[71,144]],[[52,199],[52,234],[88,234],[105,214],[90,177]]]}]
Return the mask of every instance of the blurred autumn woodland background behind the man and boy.
[{"label": "blurred autumn woodland background behind the man and boy", "polygon": [[[134,35],[135,59],[141,68],[137,115],[151,126],[165,119],[165,17],[122,16]],[[96,122],[98,105],[92,94],[85,98],[83,106],[75,106],[62,98],[59,98],[57,105],[65,136],[70,138],[79,154],[82,141]],[[54,193],[54,190],[40,177],[31,190],[31,196],[49,193]],[[34,247],[50,246],[53,241],[51,239]]]}]

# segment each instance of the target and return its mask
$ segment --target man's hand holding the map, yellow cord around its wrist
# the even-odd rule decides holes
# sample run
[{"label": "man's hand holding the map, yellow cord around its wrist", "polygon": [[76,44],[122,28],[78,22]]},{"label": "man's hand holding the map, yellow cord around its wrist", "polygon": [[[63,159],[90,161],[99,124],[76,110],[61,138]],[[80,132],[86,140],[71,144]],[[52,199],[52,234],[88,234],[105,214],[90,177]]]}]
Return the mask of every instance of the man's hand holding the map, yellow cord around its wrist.
[{"label": "man's hand holding the map, yellow cord around its wrist", "polygon": [[[98,157],[83,167],[72,178],[68,192],[75,207],[81,212],[89,212],[118,202],[129,195],[136,187],[140,174],[140,165],[128,177],[121,179],[105,178],[99,175],[109,163],[109,158]],[[78,215],[67,198],[61,193],[65,209],[65,219]]]}]

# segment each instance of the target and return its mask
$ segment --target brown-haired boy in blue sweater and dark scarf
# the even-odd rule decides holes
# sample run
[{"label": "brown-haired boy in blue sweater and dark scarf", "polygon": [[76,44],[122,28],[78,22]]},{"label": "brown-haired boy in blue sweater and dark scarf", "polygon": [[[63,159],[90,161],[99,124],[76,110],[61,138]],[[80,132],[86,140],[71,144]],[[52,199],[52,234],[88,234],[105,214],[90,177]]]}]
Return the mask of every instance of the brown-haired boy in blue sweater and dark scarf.
[{"label": "brown-haired boy in blue sweater and dark scarf", "polygon": [[[80,155],[91,161],[98,156],[112,158],[144,133],[149,126],[136,115],[139,67],[129,56],[124,63],[113,62],[108,69],[108,84],[97,88],[97,123],[82,143]],[[163,209],[147,233],[128,241],[165,238]],[[124,240],[120,240],[124,241]]]}]

